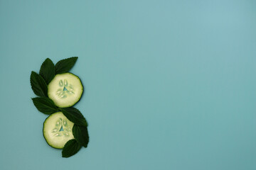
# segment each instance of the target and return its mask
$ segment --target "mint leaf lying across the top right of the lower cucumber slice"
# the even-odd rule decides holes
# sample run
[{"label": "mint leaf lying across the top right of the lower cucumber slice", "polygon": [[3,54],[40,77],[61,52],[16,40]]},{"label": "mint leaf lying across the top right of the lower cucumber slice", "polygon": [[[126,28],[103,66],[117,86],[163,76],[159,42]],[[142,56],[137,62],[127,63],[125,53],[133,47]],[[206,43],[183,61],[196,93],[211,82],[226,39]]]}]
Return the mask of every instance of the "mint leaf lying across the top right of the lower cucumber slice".
[{"label": "mint leaf lying across the top right of the lower cucumber slice", "polygon": [[81,126],[87,126],[87,122],[83,117],[82,113],[76,108],[60,108],[63,115],[68,118],[71,122]]}]

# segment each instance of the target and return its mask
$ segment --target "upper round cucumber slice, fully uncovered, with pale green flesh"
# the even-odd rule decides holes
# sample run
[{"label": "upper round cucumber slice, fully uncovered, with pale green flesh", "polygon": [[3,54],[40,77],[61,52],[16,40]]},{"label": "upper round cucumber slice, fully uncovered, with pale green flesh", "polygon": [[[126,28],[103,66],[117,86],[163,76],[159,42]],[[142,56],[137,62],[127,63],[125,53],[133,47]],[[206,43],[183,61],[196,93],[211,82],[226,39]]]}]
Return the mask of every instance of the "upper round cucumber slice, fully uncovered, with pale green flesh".
[{"label": "upper round cucumber slice, fully uncovered, with pale green flesh", "polygon": [[79,77],[71,73],[57,74],[48,84],[48,96],[60,108],[68,108],[77,103],[82,91]]}]

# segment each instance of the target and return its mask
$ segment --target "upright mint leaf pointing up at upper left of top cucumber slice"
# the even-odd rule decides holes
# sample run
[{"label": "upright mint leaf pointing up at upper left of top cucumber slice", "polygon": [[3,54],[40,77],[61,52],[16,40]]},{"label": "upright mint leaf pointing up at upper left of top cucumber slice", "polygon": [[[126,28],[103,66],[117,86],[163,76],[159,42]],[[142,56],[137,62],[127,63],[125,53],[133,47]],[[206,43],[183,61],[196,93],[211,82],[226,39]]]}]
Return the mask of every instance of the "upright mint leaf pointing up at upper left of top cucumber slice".
[{"label": "upright mint leaf pointing up at upper left of top cucumber slice", "polygon": [[49,58],[47,58],[41,65],[39,74],[46,81],[46,84],[49,84],[50,81],[55,77],[55,67]]}]

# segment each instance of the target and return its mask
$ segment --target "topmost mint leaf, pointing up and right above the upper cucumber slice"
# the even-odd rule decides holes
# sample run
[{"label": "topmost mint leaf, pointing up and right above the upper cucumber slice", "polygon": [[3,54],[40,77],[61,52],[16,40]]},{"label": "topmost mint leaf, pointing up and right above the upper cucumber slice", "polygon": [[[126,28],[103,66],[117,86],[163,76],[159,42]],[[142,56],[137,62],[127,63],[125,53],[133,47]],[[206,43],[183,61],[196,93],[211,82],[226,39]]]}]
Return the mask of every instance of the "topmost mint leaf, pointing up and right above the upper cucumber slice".
[{"label": "topmost mint leaf, pointing up and right above the upper cucumber slice", "polygon": [[74,66],[78,57],[70,57],[64,60],[60,60],[55,64],[55,73],[61,74],[70,71]]}]

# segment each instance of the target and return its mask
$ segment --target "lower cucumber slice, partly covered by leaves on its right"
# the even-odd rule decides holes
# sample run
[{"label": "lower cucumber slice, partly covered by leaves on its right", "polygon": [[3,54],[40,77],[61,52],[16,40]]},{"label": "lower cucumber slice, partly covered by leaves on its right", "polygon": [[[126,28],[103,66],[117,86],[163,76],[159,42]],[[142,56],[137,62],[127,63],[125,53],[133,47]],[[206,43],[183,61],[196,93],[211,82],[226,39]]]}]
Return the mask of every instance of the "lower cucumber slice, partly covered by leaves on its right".
[{"label": "lower cucumber slice, partly covered by leaves on its right", "polygon": [[51,147],[63,149],[68,140],[74,139],[73,125],[62,112],[53,113],[43,123],[43,137]]}]

